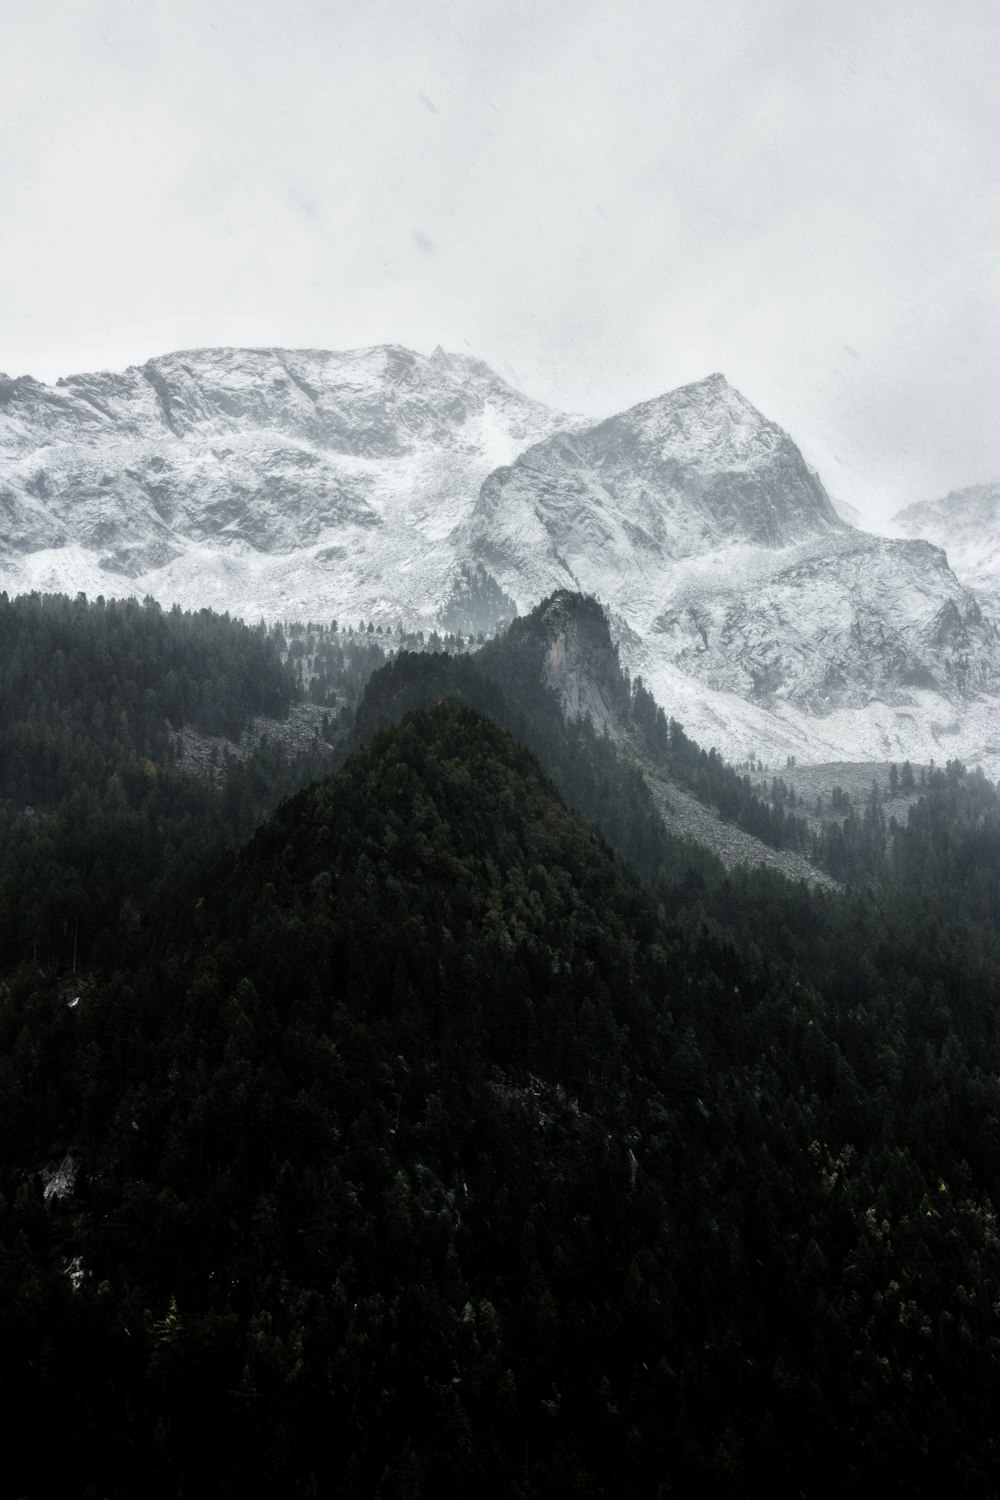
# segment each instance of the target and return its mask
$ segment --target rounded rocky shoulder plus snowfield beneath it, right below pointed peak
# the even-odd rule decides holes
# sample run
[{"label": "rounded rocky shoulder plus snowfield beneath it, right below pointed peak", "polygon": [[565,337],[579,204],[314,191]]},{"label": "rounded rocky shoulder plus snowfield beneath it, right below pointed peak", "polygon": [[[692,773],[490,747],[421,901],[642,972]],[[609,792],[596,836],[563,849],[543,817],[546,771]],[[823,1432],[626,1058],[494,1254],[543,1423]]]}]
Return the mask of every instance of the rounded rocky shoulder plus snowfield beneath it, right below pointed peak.
[{"label": "rounded rocky shoulder plus snowfield beneath it, right below pointed peak", "polygon": [[859,531],[730,548],[664,579],[622,634],[688,734],[735,760],[949,760],[1000,776],[1000,636],[925,542]]}]

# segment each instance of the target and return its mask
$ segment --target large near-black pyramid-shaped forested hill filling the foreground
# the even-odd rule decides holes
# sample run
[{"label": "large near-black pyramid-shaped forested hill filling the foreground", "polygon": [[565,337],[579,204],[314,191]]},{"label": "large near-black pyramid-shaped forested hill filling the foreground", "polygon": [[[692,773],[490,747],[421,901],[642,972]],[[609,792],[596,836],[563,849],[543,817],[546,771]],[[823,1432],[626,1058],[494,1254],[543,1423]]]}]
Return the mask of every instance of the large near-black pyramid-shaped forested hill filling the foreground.
[{"label": "large near-black pyramid-shaped forested hill filling the foreground", "polygon": [[[996,891],[997,825],[960,777],[937,807],[900,873],[940,878],[937,934],[859,927],[843,1000],[861,903],[799,891],[792,952],[772,884],[724,886],[732,936],[667,916],[444,702],[76,1005],[22,970],[13,1492],[996,1491],[997,939],[955,903]],[[973,1030],[930,988],[943,934]]]}]

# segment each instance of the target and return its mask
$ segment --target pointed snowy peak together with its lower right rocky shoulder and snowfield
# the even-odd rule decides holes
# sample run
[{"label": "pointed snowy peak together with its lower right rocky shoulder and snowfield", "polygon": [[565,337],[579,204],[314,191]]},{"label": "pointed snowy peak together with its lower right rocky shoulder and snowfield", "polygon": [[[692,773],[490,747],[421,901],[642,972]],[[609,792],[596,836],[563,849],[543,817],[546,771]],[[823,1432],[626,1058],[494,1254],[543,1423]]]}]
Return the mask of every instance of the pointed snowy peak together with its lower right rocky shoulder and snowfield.
[{"label": "pointed snowy peak together with its lower right rocky shoulder and snowfield", "polygon": [[993,620],[937,548],[844,524],[720,375],[498,470],[465,546],[522,609],[555,588],[607,603],[622,660],[735,759],[1000,771]]}]

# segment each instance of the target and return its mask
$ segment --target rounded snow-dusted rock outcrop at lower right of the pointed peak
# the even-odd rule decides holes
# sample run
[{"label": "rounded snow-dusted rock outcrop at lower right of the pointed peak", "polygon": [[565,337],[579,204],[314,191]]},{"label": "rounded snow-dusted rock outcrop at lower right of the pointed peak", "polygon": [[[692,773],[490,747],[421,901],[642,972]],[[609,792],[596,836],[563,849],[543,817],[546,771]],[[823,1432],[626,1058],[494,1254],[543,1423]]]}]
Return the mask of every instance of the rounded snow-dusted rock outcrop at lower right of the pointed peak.
[{"label": "rounded snow-dusted rock outcrop at lower right of the pointed peak", "polygon": [[958,702],[1000,682],[997,627],[945,554],[856,531],[687,568],[654,634],[708,687],[811,714],[910,705],[915,688]]}]

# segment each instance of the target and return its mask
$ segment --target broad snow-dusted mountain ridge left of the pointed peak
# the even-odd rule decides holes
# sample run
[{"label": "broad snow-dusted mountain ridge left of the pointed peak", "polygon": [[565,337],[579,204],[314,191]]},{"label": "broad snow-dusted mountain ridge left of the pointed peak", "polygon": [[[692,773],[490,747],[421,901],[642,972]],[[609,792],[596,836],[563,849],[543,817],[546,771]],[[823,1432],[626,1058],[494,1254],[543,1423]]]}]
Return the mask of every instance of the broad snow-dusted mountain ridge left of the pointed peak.
[{"label": "broad snow-dusted mountain ridge left of the pointed peak", "polygon": [[568,418],[436,350],[195,350],[0,378],[9,590],[432,620],[481,480]]}]

